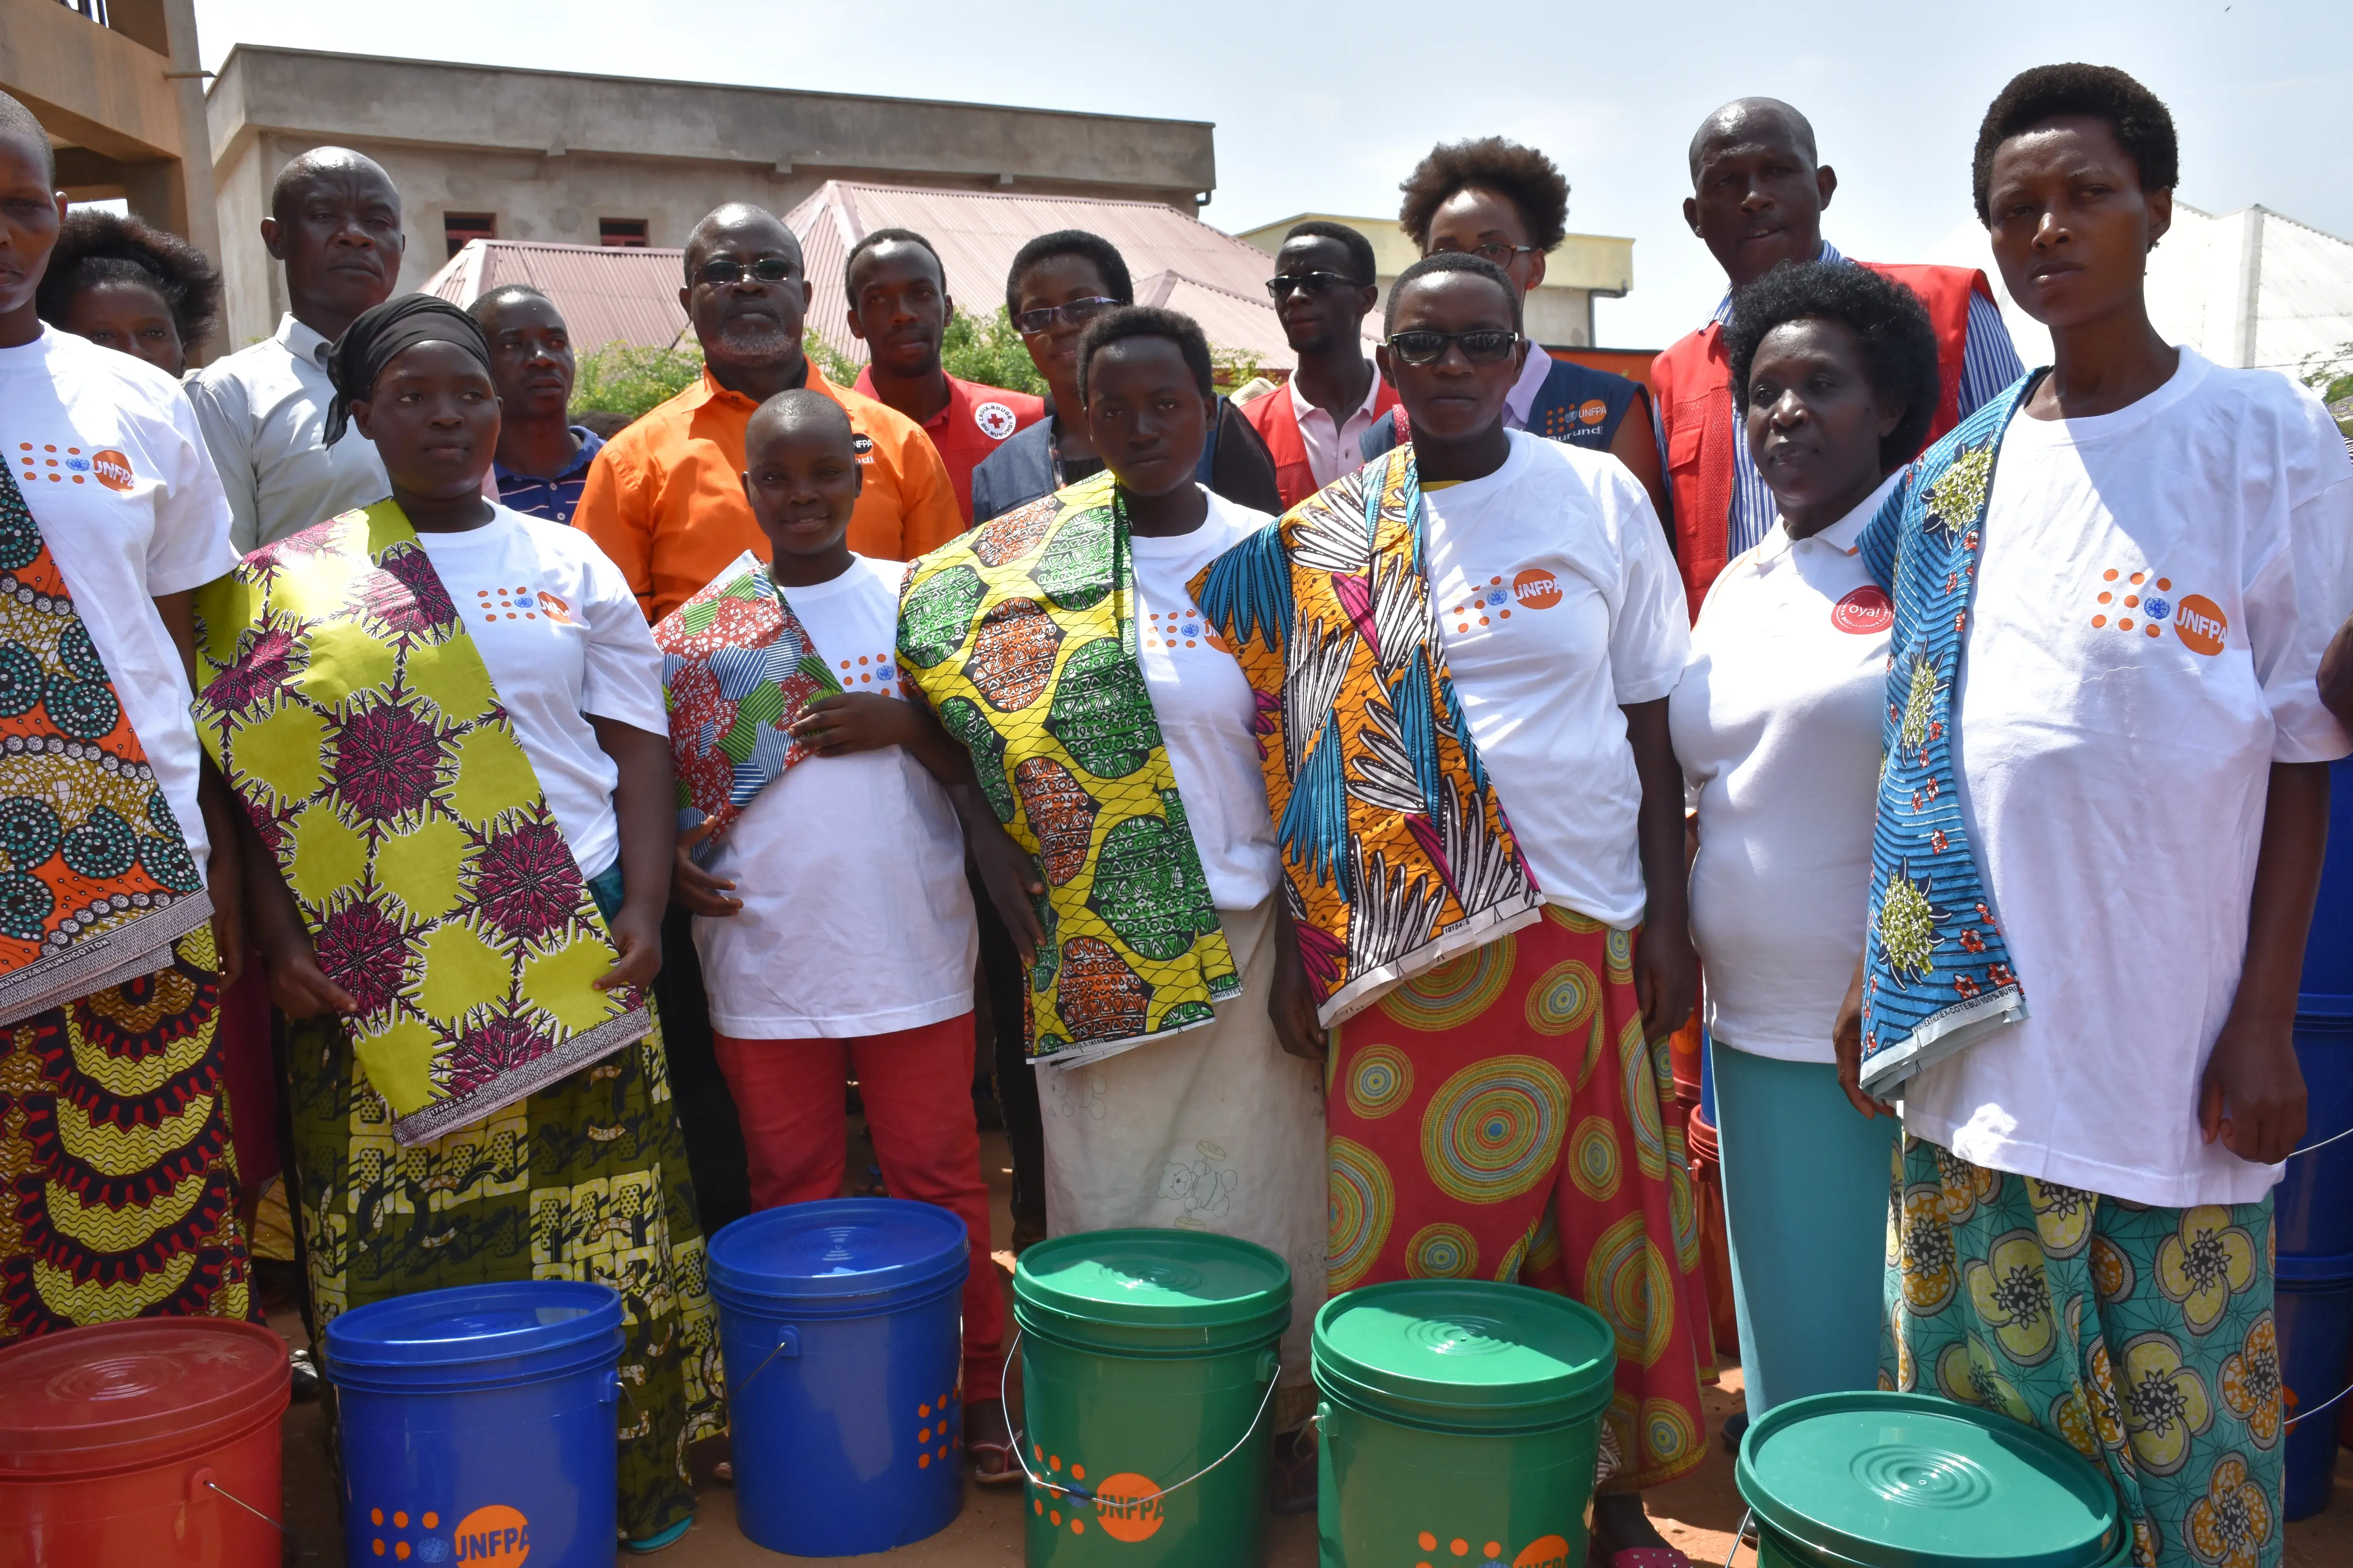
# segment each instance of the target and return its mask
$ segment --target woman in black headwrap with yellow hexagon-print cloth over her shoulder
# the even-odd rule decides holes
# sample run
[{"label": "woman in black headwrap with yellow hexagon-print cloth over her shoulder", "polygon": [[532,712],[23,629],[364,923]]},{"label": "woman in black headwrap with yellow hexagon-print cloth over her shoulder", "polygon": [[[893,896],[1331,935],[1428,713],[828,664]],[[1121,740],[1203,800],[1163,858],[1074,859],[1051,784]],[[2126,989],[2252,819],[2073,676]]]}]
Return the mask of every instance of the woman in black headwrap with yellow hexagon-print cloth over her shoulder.
[{"label": "woman in black headwrap with yellow hexagon-print cloth over her shoulder", "polygon": [[[344,882],[353,858],[369,853],[379,816],[393,842],[424,846],[412,858],[376,853],[376,882],[409,919],[431,919],[464,898],[475,910],[464,926],[435,926],[407,954],[393,950],[391,976],[414,987],[426,1013],[459,1016],[464,1034],[442,1058],[445,1072],[527,1070],[529,1013],[496,1009],[508,987],[506,954],[515,952],[496,938],[522,933],[522,952],[539,954],[522,959],[525,997],[565,985],[555,976],[567,971],[567,950],[546,933],[569,929],[565,914],[579,907],[586,884],[619,952],[609,969],[593,957],[586,973],[595,990],[645,987],[661,961],[675,811],[661,656],[628,581],[586,536],[482,496],[499,444],[499,397],[489,346],[471,315],[424,294],[376,306],[339,339],[329,376],[329,440],[348,411],[391,477],[391,501],[365,515],[369,529],[381,536],[405,524],[424,552],[424,564],[414,552],[386,555],[386,567],[362,578],[372,607],[365,625],[435,646],[471,642],[480,661],[419,665],[412,656],[402,684],[419,682],[431,698],[421,708],[409,691],[381,689],[391,670],[388,654],[372,651],[381,644],[365,635],[336,642],[336,665],[322,679],[348,679],[353,696],[332,705],[318,766],[336,780],[336,820],[355,827],[334,832],[329,811],[313,804],[292,827],[266,823],[278,844],[292,844],[287,856],[245,835],[256,940],[287,1016],[294,1187],[299,1222],[313,1237],[313,1333],[351,1307],[438,1286],[548,1276],[614,1286],[628,1307],[619,1528],[626,1542],[654,1549],[678,1540],[694,1516],[687,1443],[720,1429],[720,1392],[706,1378],[718,1333],[704,1288],[704,1237],[680,1180],[685,1138],[659,1025],[562,1077],[532,1079],[539,1086],[527,1098],[487,1119],[395,1154],[386,1100],[341,1023],[369,1011],[367,992],[381,971],[346,961],[348,922],[329,917],[308,929],[289,882]],[[280,574],[320,571],[341,564],[329,550],[346,538],[336,520],[254,559],[268,557]],[[419,668],[428,675],[419,677]],[[233,689],[207,686],[207,705],[235,701]],[[489,724],[478,719],[482,710],[504,710],[529,764],[525,778],[478,771],[475,757],[489,755],[475,745]],[[442,741],[431,722],[409,717],[424,712],[471,738]],[[311,759],[289,757],[271,788],[299,797],[296,769]],[[529,799],[532,783],[553,835],[536,811],[513,825],[513,809],[499,806]],[[471,886],[456,882],[454,865],[468,846],[466,827],[405,795],[412,788],[447,790],[449,809],[480,823],[487,842]],[[374,802],[388,804],[379,813]],[[256,809],[254,795],[247,806]],[[569,865],[548,863],[565,851]],[[464,936],[471,931],[482,936]],[[334,961],[322,964],[322,954]],[[438,980],[445,964],[461,976],[456,990],[435,990],[447,985]],[[579,1009],[572,985],[567,1006]],[[478,1006],[494,1016],[480,1018]]]}]

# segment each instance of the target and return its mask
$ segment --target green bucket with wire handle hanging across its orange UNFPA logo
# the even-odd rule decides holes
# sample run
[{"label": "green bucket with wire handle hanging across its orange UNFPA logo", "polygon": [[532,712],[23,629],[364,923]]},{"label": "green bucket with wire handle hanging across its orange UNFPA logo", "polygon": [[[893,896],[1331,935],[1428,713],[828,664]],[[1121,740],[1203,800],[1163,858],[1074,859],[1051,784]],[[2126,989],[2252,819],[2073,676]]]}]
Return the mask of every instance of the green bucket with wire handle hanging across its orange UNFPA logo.
[{"label": "green bucket with wire handle hanging across its orange UNFPA logo", "polygon": [[1028,1568],[1249,1568],[1292,1269],[1233,1237],[1094,1229],[1014,1269]]}]

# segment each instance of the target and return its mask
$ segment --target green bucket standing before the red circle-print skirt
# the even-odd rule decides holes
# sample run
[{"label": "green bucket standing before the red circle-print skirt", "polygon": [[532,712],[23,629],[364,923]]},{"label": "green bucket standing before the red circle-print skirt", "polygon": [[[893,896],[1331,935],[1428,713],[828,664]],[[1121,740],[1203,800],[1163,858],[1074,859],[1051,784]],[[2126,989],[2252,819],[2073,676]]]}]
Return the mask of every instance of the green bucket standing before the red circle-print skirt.
[{"label": "green bucket standing before the red circle-print skirt", "polygon": [[1405,1279],[1315,1314],[1322,1568],[1584,1568],[1617,1335],[1548,1291]]}]

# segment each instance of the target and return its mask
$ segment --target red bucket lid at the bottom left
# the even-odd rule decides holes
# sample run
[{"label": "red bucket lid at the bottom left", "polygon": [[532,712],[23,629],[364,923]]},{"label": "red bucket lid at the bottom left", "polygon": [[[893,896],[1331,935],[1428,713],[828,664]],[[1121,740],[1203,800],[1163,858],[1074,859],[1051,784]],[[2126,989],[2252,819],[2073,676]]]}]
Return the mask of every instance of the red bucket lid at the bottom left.
[{"label": "red bucket lid at the bottom left", "polygon": [[0,1476],[75,1479],[195,1458],[287,1406],[268,1328],[169,1316],[0,1349]]}]

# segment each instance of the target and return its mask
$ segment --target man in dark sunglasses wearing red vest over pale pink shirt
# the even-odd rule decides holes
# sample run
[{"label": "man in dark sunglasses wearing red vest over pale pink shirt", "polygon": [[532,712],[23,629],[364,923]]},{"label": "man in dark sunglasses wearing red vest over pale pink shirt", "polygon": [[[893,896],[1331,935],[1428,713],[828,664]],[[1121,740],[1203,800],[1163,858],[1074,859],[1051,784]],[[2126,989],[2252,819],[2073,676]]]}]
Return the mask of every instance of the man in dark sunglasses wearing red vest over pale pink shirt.
[{"label": "man in dark sunglasses wearing red vest over pale pink shirt", "polygon": [[1365,315],[1381,299],[1372,240],[1325,219],[1292,223],[1266,292],[1299,369],[1280,393],[1242,404],[1242,418],[1266,440],[1289,508],[1362,465],[1358,442],[1398,393],[1365,357]]}]

